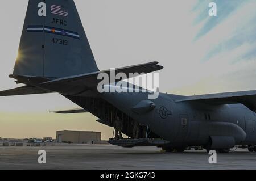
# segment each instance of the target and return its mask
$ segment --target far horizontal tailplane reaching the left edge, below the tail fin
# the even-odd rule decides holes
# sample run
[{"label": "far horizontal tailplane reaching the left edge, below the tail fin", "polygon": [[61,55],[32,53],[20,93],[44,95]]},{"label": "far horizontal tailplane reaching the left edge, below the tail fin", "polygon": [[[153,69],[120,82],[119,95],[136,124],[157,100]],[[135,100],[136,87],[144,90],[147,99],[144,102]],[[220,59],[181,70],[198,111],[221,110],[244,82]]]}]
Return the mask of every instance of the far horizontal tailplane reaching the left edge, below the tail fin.
[{"label": "far horizontal tailplane reaching the left edge, below the tail fin", "polygon": [[12,96],[12,95],[28,95],[28,94],[46,94],[53,93],[52,91],[40,89],[33,86],[17,87],[15,89],[0,91],[0,96]]}]

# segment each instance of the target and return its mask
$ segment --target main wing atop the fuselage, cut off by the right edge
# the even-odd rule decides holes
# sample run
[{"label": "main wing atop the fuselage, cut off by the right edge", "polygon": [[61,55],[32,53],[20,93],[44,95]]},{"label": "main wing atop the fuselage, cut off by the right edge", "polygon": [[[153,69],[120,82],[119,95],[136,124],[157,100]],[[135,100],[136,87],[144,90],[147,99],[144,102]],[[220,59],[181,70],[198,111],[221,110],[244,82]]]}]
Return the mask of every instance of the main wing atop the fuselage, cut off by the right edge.
[{"label": "main wing atop the fuselage, cut off by the right edge", "polygon": [[256,90],[228,92],[219,94],[184,96],[176,102],[203,102],[207,104],[244,104],[250,110],[256,111]]}]

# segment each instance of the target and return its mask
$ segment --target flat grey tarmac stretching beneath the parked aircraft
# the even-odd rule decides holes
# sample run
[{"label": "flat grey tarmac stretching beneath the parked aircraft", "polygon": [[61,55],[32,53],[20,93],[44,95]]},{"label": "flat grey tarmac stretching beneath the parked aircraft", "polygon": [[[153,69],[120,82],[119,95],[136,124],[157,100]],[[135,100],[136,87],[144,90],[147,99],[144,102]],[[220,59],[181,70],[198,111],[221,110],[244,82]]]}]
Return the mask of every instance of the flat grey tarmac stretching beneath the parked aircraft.
[{"label": "flat grey tarmac stretching beneath the parked aircraft", "polygon": [[[39,150],[46,151],[46,164],[39,164]],[[238,148],[217,154],[210,164],[204,150],[164,153],[156,147],[121,148],[113,145],[0,146],[0,169],[256,169],[256,153]]]}]

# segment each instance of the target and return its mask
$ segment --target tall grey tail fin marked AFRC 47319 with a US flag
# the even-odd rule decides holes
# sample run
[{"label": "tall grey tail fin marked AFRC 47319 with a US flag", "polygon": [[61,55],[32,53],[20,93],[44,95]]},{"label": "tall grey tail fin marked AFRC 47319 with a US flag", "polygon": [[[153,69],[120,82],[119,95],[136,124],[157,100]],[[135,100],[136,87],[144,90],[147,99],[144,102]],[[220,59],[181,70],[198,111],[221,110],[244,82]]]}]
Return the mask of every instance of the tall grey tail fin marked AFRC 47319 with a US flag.
[{"label": "tall grey tail fin marked AFRC 47319 with a US flag", "polygon": [[30,0],[13,75],[61,78],[98,71],[73,0]]}]

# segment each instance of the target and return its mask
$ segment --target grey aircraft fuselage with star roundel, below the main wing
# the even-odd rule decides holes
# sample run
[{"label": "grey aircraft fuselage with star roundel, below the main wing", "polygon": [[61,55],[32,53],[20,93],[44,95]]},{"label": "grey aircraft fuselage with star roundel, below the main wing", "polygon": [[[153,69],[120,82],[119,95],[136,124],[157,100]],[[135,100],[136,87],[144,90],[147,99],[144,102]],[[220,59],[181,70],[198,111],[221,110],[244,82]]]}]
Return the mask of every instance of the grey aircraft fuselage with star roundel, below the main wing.
[{"label": "grey aircraft fuselage with star roundel, below the main wing", "polygon": [[153,110],[138,113],[133,107],[147,100],[146,94],[109,93],[102,98],[174,146],[207,145],[210,141],[217,145],[256,143],[256,113],[243,104],[182,103],[175,102],[179,95],[160,94],[150,100],[155,104]]}]

